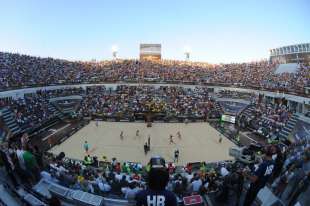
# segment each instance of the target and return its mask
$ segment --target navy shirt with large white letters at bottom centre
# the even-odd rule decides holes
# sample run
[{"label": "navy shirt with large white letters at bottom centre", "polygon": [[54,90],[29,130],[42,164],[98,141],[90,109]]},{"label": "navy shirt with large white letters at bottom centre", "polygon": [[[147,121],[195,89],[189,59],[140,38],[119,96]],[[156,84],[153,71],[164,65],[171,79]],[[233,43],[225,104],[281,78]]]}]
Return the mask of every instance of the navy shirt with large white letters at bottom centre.
[{"label": "navy shirt with large white letters at bottom centre", "polygon": [[176,196],[167,190],[142,190],[136,195],[137,206],[177,206]]}]

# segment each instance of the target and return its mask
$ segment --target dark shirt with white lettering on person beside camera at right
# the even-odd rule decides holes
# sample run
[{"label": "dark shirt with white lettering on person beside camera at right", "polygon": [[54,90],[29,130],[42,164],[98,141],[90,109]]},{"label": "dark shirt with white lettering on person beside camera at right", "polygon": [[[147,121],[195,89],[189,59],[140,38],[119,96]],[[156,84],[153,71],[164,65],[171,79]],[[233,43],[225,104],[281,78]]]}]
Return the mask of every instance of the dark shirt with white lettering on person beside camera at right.
[{"label": "dark shirt with white lettering on person beside camera at right", "polygon": [[267,183],[268,179],[273,173],[274,169],[274,161],[273,160],[265,160],[261,163],[258,168],[254,171],[254,175],[258,177],[255,186],[264,187]]}]

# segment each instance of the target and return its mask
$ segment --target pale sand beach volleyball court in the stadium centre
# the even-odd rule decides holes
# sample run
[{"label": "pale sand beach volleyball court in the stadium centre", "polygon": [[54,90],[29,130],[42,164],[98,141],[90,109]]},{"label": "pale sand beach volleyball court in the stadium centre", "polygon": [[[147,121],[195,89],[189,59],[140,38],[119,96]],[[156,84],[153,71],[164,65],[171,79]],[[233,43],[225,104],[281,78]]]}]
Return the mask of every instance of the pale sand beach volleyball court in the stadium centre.
[{"label": "pale sand beach volleyball court in the stadium centre", "polygon": [[[139,130],[139,136],[136,131]],[[120,138],[123,131],[123,139]],[[177,132],[181,133],[178,138]],[[169,143],[173,135],[174,143]],[[228,150],[234,144],[223,137],[219,143],[219,132],[208,123],[153,123],[146,127],[145,123],[128,122],[90,122],[87,126],[73,134],[62,144],[53,147],[50,152],[65,152],[67,157],[83,159],[84,142],[89,143],[89,153],[102,160],[105,155],[109,160],[116,157],[119,161],[141,162],[146,164],[151,156],[160,155],[166,161],[173,161],[174,150],[180,151],[178,164],[197,161],[220,161],[232,159]],[[151,149],[144,154],[143,145],[151,137]]]}]

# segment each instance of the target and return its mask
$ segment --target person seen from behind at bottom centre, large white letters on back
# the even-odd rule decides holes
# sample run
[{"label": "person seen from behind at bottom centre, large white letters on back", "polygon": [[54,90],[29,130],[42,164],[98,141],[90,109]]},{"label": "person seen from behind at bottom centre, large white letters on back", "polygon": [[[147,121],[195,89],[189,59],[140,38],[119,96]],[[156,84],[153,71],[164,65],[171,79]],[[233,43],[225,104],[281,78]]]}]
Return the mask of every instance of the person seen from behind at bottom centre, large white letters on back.
[{"label": "person seen from behind at bottom centre, large white letters on back", "polygon": [[136,195],[136,206],[177,206],[174,193],[166,190],[169,173],[166,168],[151,168],[148,173],[148,189]]}]

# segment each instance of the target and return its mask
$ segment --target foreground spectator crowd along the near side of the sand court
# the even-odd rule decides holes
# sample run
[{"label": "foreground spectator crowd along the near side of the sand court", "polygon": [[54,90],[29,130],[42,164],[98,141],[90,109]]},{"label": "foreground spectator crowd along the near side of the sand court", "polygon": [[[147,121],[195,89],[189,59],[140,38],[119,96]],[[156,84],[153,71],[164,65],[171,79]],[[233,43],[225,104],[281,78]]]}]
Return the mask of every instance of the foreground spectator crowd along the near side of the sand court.
[{"label": "foreground spectator crowd along the near side of the sand court", "polygon": [[[301,205],[309,204],[309,144],[301,140],[288,147],[269,145],[262,152],[258,161],[249,165],[201,162],[175,166],[168,162],[164,164],[168,175],[164,188],[181,202],[182,197],[200,194],[209,195],[222,205],[238,205],[244,198],[244,204],[251,205],[258,191],[268,185],[287,205],[297,201]],[[116,158],[99,162],[97,157],[88,156],[90,161],[83,162],[68,159],[65,153],[57,156],[45,153],[27,142],[3,144],[0,153],[1,165],[6,167],[15,187],[33,186],[44,179],[74,190],[135,201],[137,194],[147,189],[152,181],[149,179],[153,168],[151,161],[147,165],[119,162]],[[266,163],[269,164],[267,168]],[[245,195],[247,183],[251,183],[252,192],[257,186],[254,196],[252,192]]]}]

